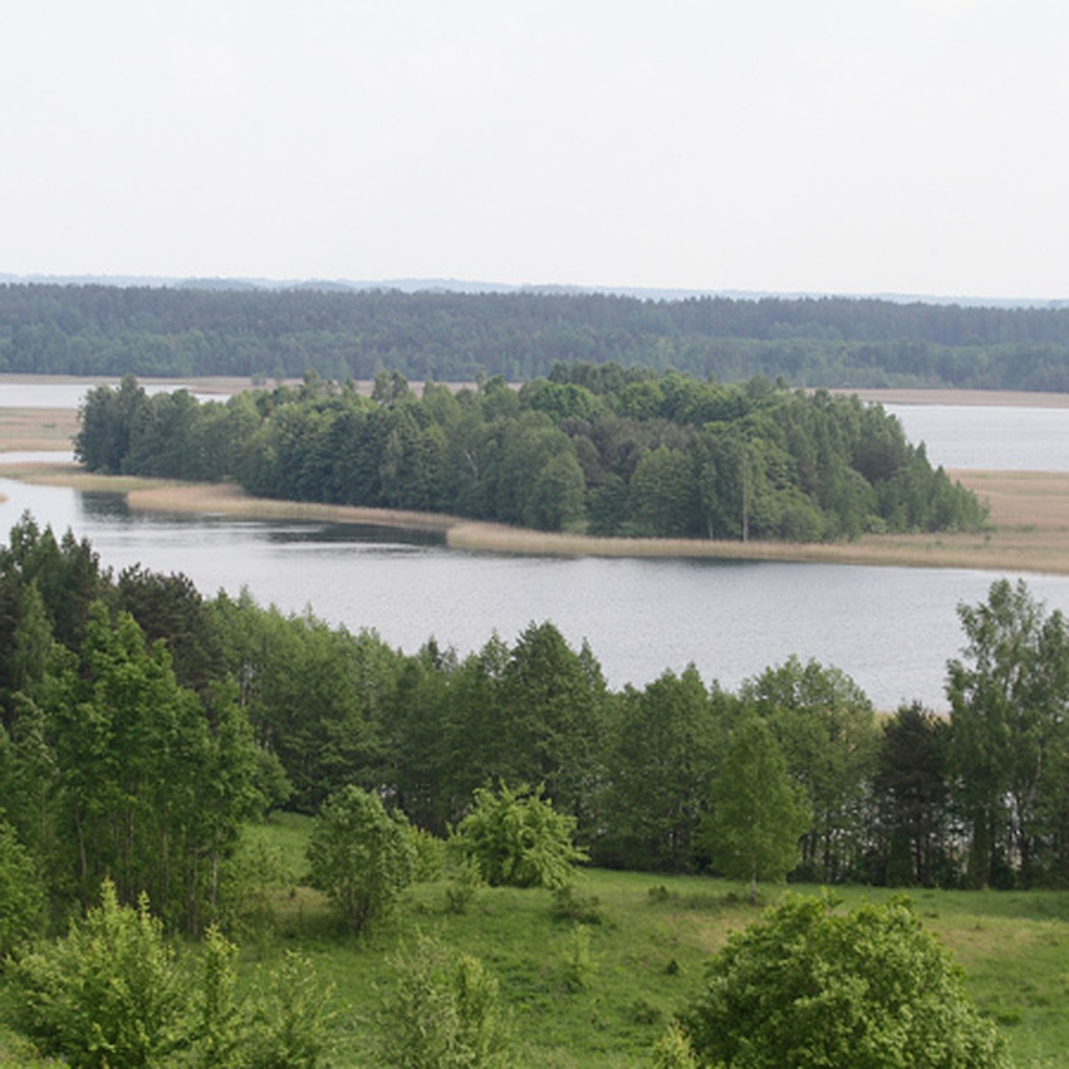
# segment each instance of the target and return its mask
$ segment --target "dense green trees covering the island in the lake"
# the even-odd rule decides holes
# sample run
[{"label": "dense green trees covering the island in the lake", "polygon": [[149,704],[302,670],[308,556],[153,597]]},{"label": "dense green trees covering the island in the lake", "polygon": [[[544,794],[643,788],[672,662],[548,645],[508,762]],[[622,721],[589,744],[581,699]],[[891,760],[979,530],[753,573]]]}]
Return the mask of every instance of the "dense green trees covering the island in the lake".
[{"label": "dense green trees covering the island in the lake", "polygon": [[227,404],[126,376],[88,394],[75,452],[95,471],[604,536],[809,542],[983,518],[879,405],[617,363],[420,397],[398,372],[371,398],[310,374]]}]

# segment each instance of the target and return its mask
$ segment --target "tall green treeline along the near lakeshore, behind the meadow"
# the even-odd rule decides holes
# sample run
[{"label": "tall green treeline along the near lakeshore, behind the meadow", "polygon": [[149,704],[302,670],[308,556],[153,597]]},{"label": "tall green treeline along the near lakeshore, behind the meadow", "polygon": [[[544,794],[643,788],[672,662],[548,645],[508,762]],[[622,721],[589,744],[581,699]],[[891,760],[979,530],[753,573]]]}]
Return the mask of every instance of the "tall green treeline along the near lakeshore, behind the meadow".
[{"label": "tall green treeline along the near lakeshore, behind the meadow", "polygon": [[721,871],[711,820],[755,722],[805,803],[795,877],[1069,879],[1069,635],[1023,585],[962,608],[949,718],[878,716],[842,672],[796,660],[737,694],[693,667],[613,692],[551,623],[465,657],[404,654],[182,576],[117,578],[29,517],[0,604],[0,828],[60,905],[109,876],[197,929],[224,910],[244,820],[346,786],[443,834],[487,783],[544,785],[599,865]]}]

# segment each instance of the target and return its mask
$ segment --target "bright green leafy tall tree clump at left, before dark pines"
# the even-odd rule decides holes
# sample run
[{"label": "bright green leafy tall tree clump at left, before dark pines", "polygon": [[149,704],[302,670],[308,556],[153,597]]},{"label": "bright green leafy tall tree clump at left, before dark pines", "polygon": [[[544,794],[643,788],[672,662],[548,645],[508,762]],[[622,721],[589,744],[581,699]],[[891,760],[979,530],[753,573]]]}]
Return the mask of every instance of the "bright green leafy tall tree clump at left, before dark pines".
[{"label": "bright green leafy tall tree clump at left, before dark pines", "polygon": [[56,868],[83,901],[107,876],[121,901],[146,892],[171,924],[211,919],[220,866],[263,800],[248,722],[227,688],[207,700],[179,686],[133,617],[93,605],[77,661],[42,700]]}]

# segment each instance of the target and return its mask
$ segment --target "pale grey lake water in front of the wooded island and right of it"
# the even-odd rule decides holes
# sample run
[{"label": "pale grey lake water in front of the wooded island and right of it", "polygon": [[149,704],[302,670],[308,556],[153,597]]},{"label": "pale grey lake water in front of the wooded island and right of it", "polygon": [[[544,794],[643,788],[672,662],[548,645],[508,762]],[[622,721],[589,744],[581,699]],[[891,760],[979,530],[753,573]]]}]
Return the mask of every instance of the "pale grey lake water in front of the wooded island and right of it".
[{"label": "pale grey lake water in front of the wooded island and right of it", "polygon": [[[934,463],[1069,469],[1069,409],[887,407],[911,438],[928,444]],[[1025,441],[1028,448],[1019,449]],[[351,525],[131,513],[117,495],[12,480],[0,479],[0,493],[7,495],[0,505],[4,536],[29,509],[57,533],[69,527],[88,538],[108,567],[185,572],[206,595],[247,587],[261,604],[310,607],[332,624],[372,628],[406,652],[433,635],[465,654],[494,632],[511,642],[531,621],[552,620],[573,646],[590,642],[614,688],[642,686],[693,662],[707,682],[735,690],[796,654],[841,668],[881,709],[915,698],[945,709],[946,661],[962,645],[957,606],[982,601],[998,577],[502,556]],[[1050,608],[1069,611],[1069,577],[1026,582]]]}]

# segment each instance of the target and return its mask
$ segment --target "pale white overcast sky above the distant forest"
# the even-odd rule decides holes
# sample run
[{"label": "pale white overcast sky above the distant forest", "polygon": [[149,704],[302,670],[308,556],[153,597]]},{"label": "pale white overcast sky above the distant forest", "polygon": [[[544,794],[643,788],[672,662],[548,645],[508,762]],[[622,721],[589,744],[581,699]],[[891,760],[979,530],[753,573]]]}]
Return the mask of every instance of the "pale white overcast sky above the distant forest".
[{"label": "pale white overcast sky above the distant forest", "polygon": [[1066,0],[9,0],[0,274],[1069,297]]}]

